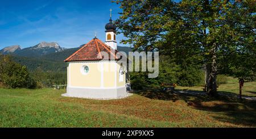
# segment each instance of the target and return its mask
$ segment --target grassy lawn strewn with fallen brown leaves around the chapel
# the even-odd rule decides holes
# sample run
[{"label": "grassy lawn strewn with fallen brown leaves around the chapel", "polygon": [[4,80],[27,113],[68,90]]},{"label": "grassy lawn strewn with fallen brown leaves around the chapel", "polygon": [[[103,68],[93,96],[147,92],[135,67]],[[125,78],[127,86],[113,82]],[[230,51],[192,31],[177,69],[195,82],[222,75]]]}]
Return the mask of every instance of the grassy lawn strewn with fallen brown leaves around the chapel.
[{"label": "grassy lawn strewn with fallen brown leaves around the chapel", "polygon": [[0,89],[0,127],[256,127],[256,103],[245,100],[158,91],[90,100],[64,92]]}]

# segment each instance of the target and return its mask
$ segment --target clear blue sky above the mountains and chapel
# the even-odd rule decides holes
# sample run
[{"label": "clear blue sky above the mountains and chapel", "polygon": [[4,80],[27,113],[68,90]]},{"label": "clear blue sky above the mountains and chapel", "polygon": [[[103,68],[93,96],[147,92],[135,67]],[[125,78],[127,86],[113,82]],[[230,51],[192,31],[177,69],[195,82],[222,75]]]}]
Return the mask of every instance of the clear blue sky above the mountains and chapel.
[{"label": "clear blue sky above the mountains and chapel", "polygon": [[[111,0],[1,0],[0,49],[10,45],[32,47],[42,41],[56,41],[61,47],[75,48],[97,37],[105,41],[105,24],[121,12]],[[117,41],[123,39],[117,36]],[[124,46],[123,44],[119,44]]]}]

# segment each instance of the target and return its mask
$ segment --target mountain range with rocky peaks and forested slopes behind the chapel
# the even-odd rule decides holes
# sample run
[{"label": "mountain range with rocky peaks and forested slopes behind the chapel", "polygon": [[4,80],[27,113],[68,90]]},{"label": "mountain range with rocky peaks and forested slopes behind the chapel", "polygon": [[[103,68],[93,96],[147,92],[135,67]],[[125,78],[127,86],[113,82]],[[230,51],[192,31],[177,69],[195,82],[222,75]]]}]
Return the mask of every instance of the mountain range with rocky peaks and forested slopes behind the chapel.
[{"label": "mountain range with rocky peaks and forested slopes behind the chapel", "polygon": [[[80,45],[81,47],[82,45]],[[28,70],[42,69],[44,71],[65,71],[64,60],[75,53],[77,48],[63,48],[52,42],[42,42],[33,47],[22,49],[20,45],[13,45],[0,50],[2,54],[9,54],[14,61],[26,65]],[[119,52],[130,52],[130,47],[117,47]]]}]

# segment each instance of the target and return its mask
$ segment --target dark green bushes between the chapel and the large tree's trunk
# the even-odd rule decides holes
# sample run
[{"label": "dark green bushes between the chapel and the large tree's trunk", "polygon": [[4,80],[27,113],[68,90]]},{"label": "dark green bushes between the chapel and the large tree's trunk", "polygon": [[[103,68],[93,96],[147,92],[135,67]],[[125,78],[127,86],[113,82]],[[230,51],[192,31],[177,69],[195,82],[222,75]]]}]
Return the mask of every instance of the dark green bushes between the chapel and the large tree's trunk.
[{"label": "dark green bushes between the chapel and the large tree's trunk", "polygon": [[177,65],[168,56],[160,56],[159,75],[148,78],[147,72],[130,72],[131,88],[135,90],[143,87],[160,87],[162,83],[177,83],[180,86],[204,85],[204,72],[200,65]]}]

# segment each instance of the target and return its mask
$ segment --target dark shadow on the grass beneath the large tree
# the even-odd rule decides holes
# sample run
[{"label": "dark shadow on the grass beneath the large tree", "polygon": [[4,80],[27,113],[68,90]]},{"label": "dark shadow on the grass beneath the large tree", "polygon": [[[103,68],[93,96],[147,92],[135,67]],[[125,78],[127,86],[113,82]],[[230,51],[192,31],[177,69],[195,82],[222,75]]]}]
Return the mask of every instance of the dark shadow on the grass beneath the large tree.
[{"label": "dark shadow on the grass beneath the large tree", "polygon": [[143,90],[135,92],[146,98],[171,100],[184,100],[188,107],[211,112],[211,117],[218,121],[256,127],[256,101],[239,100],[233,92],[221,91],[231,95],[218,95],[209,97],[203,91],[176,90],[175,93],[164,93],[161,90]]}]

